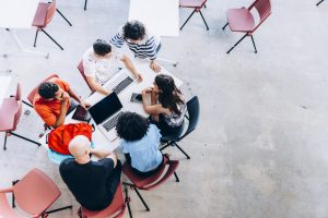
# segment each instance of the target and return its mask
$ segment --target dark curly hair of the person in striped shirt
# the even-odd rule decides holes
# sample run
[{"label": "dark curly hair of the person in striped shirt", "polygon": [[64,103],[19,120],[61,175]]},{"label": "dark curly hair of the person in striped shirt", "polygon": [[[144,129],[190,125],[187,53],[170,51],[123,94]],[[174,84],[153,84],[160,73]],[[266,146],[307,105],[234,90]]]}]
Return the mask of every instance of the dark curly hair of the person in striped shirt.
[{"label": "dark curly hair of the person in striped shirt", "polygon": [[129,21],[124,26],[124,38],[139,40],[142,39],[144,35],[144,25],[139,21]]}]

